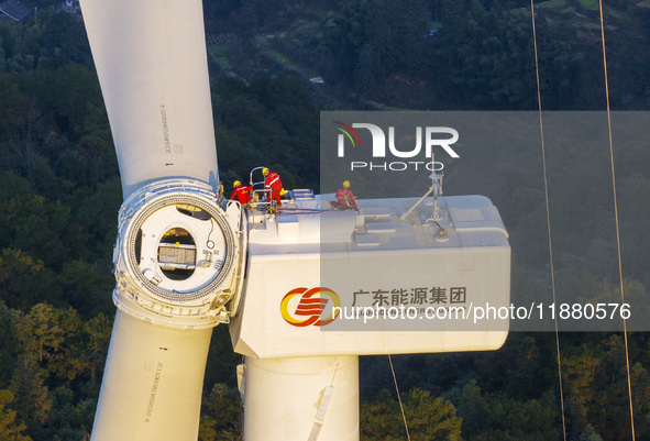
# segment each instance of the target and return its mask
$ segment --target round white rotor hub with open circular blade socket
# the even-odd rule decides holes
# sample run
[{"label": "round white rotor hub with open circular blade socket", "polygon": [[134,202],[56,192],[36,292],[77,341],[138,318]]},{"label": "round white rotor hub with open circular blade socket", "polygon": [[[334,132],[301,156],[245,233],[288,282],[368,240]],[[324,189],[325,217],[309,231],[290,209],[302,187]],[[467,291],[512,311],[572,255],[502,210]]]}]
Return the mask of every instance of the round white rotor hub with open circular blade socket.
[{"label": "round white rotor hub with open circular blade socket", "polygon": [[199,180],[164,179],[131,195],[119,216],[115,306],[132,317],[179,329],[228,321],[241,285],[241,208],[223,210]]}]

